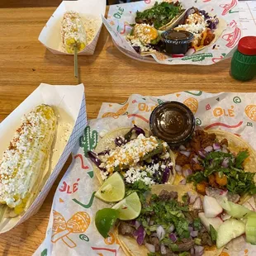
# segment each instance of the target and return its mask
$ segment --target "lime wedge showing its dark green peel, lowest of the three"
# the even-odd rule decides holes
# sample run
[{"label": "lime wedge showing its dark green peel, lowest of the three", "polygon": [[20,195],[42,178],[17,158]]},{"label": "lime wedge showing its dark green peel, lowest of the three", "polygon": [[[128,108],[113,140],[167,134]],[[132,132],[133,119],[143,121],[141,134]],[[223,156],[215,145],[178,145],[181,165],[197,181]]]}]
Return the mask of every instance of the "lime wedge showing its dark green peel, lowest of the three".
[{"label": "lime wedge showing its dark green peel, lowest of the three", "polygon": [[104,208],[96,212],[95,225],[99,233],[107,238],[109,230],[118,218],[118,211],[111,208]]}]

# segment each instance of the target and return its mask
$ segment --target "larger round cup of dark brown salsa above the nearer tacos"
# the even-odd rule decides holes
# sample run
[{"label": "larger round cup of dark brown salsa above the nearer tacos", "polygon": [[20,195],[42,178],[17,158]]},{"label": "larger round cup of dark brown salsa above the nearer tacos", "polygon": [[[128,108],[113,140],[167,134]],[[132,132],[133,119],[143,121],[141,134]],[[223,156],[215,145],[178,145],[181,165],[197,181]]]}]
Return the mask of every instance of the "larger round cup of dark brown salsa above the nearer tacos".
[{"label": "larger round cup of dark brown salsa above the nearer tacos", "polygon": [[195,116],[181,102],[164,102],[152,111],[149,126],[154,136],[170,146],[183,145],[195,130]]}]

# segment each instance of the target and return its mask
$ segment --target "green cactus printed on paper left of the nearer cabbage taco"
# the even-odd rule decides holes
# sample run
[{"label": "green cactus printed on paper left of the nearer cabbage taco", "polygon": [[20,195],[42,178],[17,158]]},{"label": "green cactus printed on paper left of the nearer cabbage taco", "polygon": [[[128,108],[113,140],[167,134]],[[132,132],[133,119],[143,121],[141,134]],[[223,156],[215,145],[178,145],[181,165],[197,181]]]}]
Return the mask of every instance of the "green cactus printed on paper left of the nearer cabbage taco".
[{"label": "green cactus printed on paper left of the nearer cabbage taco", "polygon": [[83,135],[79,138],[79,146],[83,148],[84,156],[88,155],[88,151],[96,148],[97,138],[97,130],[91,131],[90,126],[85,127]]}]

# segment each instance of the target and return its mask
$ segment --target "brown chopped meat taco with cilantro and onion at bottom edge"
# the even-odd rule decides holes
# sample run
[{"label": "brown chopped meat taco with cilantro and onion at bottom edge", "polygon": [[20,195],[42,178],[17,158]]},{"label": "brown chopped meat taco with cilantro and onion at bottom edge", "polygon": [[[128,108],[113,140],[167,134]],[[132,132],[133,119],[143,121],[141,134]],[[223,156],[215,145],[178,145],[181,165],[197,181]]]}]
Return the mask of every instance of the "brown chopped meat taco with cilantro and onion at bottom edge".
[{"label": "brown chopped meat taco with cilantro and onion at bottom edge", "polygon": [[184,186],[154,185],[151,196],[142,201],[135,220],[121,220],[116,230],[126,255],[220,255],[216,241],[208,233],[188,197],[197,197]]}]

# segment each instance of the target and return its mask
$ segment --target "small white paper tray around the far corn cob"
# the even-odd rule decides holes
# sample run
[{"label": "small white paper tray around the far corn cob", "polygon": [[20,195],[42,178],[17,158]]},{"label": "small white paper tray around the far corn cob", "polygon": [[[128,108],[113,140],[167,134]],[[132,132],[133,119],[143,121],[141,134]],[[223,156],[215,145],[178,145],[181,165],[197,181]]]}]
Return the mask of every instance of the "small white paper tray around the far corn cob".
[{"label": "small white paper tray around the far corn cob", "polygon": [[102,30],[101,16],[104,15],[106,11],[106,1],[103,0],[61,2],[59,7],[47,21],[43,30],[40,32],[38,40],[40,40],[40,42],[55,55],[69,55],[63,49],[60,34],[60,26],[64,13],[69,11],[78,12],[79,16],[85,23],[85,27],[89,26],[93,31],[95,31],[93,40],[88,43],[83,51],[78,53],[78,55],[93,55],[98,37]]}]

